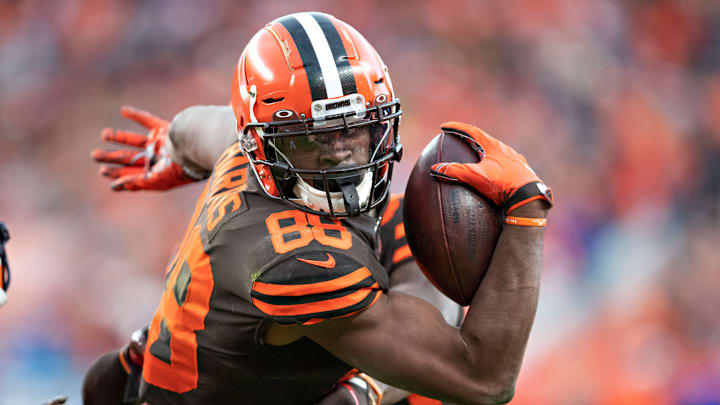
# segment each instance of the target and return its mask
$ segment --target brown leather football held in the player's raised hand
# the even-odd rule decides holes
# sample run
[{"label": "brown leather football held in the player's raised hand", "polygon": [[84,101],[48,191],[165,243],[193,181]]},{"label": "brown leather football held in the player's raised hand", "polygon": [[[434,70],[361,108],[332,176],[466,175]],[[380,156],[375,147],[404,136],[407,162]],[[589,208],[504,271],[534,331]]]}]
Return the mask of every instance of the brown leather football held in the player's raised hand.
[{"label": "brown leather football held in the player's raised hand", "polygon": [[405,234],[425,276],[453,301],[469,305],[500,237],[501,214],[468,186],[430,175],[439,162],[475,163],[459,138],[441,133],[425,147],[405,190]]}]

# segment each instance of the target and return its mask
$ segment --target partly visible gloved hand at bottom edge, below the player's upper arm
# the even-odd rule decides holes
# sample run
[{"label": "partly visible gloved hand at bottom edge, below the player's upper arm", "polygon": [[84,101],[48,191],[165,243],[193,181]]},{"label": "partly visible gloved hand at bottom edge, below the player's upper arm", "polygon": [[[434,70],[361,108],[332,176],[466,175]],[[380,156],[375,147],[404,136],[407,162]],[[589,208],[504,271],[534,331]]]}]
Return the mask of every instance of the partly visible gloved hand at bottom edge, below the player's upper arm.
[{"label": "partly visible gloved hand at bottom edge, below the player's upper arm", "polygon": [[382,390],[375,380],[365,373],[351,373],[335,386],[317,405],[379,405]]}]

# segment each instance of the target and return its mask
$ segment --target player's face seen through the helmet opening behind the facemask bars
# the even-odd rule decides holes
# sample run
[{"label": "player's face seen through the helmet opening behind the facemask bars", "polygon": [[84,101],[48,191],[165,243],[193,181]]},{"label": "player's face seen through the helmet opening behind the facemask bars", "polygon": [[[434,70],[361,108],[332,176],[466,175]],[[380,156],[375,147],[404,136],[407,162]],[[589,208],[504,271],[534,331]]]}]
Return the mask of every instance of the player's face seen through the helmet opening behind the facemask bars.
[{"label": "player's face seen through the helmet opening behind the facemask bars", "polygon": [[281,138],[275,145],[297,169],[342,169],[370,160],[368,127]]}]

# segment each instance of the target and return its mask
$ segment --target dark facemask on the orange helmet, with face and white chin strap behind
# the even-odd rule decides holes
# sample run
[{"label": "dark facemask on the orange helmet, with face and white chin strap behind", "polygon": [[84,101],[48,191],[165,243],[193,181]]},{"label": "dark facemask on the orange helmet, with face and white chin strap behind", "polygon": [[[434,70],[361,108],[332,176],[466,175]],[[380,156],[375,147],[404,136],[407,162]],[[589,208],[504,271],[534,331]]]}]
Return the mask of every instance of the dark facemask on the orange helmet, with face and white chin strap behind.
[{"label": "dark facemask on the orange helmet, with face and white chin strap behind", "polygon": [[270,197],[332,218],[356,216],[387,196],[393,163],[402,154],[401,114],[399,100],[309,119],[279,110],[272,122],[246,125],[243,137],[253,130],[262,134],[265,159],[248,155],[253,168],[270,168],[279,194]]}]

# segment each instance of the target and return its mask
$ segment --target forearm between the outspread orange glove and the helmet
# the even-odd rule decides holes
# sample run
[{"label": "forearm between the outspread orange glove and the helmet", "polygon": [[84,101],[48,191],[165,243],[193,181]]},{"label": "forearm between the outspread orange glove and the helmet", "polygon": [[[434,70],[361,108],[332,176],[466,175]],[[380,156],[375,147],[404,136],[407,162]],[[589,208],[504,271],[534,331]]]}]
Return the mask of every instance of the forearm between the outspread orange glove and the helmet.
[{"label": "forearm between the outspread orange glove and the helmet", "polygon": [[196,171],[210,171],[237,139],[235,114],[229,106],[199,105],[178,113],[170,124],[173,161]]}]

